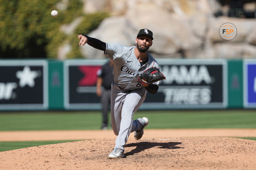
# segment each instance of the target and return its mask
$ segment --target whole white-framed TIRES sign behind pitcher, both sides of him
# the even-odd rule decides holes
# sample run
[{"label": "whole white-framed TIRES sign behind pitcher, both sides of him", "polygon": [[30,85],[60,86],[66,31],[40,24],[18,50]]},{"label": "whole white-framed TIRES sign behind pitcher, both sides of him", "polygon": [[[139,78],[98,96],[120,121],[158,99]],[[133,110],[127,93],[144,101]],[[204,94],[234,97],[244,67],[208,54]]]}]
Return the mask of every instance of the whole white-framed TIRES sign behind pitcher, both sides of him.
[{"label": "whole white-framed TIRES sign behind pitcher, both sides of him", "polygon": [[[64,63],[66,109],[101,109],[96,95],[97,71],[107,60],[67,60]],[[226,108],[225,60],[157,60],[166,76],[156,94],[147,93],[140,109]]]}]

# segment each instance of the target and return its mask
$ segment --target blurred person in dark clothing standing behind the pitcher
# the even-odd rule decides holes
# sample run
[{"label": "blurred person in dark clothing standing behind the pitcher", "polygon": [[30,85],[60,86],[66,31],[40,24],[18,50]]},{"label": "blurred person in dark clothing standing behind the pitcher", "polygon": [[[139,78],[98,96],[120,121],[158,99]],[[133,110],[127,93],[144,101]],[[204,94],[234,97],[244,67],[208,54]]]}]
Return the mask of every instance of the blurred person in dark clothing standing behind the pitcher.
[{"label": "blurred person in dark clothing standing behind the pitcher", "polygon": [[[101,129],[108,129],[108,113],[111,99],[111,84],[113,81],[113,60],[109,60],[98,70],[97,75],[97,96],[101,97],[102,104],[102,126]],[[103,89],[101,90],[101,86]]]}]

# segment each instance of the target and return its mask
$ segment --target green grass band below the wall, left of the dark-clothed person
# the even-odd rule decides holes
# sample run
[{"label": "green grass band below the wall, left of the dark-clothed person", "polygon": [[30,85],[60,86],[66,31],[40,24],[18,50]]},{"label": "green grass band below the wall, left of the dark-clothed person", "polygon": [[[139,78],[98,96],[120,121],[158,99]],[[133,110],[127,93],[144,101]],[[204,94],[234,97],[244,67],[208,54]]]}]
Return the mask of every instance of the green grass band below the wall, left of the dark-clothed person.
[{"label": "green grass band below the wall, left of the dark-clothed person", "polygon": [[100,112],[1,113],[0,131],[93,130],[101,119]]}]

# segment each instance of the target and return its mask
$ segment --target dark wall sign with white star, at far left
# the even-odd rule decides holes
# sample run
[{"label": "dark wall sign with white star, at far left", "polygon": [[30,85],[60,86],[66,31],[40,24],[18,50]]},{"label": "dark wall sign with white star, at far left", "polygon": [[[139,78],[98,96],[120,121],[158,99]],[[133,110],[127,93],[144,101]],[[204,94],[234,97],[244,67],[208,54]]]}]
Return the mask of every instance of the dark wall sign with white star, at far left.
[{"label": "dark wall sign with white star, at far left", "polygon": [[47,109],[47,61],[0,61],[0,109]]}]

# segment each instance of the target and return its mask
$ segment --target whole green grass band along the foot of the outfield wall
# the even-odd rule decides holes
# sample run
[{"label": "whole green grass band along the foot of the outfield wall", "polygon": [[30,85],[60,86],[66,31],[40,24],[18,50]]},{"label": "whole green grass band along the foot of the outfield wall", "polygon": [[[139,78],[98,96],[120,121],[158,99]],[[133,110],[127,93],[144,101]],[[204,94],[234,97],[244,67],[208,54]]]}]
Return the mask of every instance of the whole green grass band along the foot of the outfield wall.
[{"label": "whole green grass band along the foot of the outfield wall", "polygon": [[[255,110],[138,111],[147,129],[256,128]],[[0,112],[0,131],[96,130],[100,112]],[[110,119],[109,119],[110,120]]]}]

